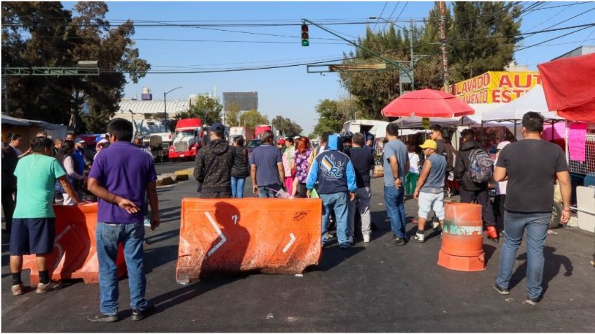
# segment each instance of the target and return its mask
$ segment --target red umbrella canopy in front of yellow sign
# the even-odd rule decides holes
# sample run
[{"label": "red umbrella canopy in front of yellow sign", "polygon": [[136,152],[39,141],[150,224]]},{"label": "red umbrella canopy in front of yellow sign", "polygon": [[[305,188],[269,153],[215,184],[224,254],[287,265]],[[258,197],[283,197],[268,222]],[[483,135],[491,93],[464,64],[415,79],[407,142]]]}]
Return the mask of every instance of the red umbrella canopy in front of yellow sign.
[{"label": "red umbrella canopy in front of yellow sign", "polygon": [[415,90],[397,97],[382,109],[388,117],[458,117],[473,115],[474,109],[441,90]]}]

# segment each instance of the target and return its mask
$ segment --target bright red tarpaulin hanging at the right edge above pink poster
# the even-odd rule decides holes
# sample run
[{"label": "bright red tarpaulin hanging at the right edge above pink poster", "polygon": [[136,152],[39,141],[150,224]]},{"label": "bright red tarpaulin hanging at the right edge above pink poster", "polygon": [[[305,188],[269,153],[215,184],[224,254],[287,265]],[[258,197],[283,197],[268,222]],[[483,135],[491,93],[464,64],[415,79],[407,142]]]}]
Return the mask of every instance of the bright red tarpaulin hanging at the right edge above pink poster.
[{"label": "bright red tarpaulin hanging at the right edge above pink poster", "polygon": [[576,122],[595,123],[595,54],[568,57],[537,66],[549,110]]}]

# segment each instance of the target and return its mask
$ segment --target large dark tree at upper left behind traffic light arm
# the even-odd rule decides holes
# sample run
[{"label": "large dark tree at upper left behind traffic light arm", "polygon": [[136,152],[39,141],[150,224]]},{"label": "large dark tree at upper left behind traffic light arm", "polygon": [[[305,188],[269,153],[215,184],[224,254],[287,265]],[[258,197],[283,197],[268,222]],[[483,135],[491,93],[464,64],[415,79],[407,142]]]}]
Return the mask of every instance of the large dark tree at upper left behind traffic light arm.
[{"label": "large dark tree at upper left behind traffic light arm", "polygon": [[[83,120],[76,130],[105,131],[126,75],[138,83],[150,69],[133,47],[133,22],[110,25],[104,2],[79,2],[74,16],[60,2],[2,2],[2,13],[2,67],[72,67],[79,60],[98,60],[100,67],[100,76],[10,78],[13,116],[52,123]],[[83,103],[89,110],[84,116]]]}]

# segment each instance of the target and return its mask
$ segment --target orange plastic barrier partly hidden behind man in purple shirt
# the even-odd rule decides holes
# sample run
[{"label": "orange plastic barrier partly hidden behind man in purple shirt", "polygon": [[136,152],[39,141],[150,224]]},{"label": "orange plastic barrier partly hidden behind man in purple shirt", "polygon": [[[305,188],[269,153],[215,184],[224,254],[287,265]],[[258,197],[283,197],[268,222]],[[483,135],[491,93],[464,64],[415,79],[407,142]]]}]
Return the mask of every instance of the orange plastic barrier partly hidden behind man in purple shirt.
[{"label": "orange plastic barrier partly hidden behind man in purple shirt", "polygon": [[[54,251],[48,256],[52,279],[83,279],[85,283],[98,283],[99,263],[95,248],[95,225],[97,203],[80,207],[54,205],[55,242]],[[126,273],[123,248],[119,246],[118,277]],[[35,255],[23,257],[23,269],[31,270],[32,285],[39,283],[39,271]]]}]

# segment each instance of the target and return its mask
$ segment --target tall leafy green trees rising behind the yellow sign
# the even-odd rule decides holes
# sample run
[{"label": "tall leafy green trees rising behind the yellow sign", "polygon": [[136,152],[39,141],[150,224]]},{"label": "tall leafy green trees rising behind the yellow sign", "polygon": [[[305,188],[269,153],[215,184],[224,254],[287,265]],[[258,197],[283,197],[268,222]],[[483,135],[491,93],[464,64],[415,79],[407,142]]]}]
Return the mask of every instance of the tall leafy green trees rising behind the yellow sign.
[{"label": "tall leafy green trees rising behind the yellow sign", "polygon": [[[500,71],[513,59],[514,45],[519,41],[521,20],[518,3],[493,1],[454,1],[446,13],[448,74],[450,83],[485,71]],[[415,64],[415,89],[441,89],[443,69],[439,46],[440,14],[438,4],[422,25],[410,29],[388,29],[373,32],[366,28],[359,44],[382,53],[389,60],[408,63],[409,36],[413,37],[415,55],[427,55]],[[351,59],[357,57],[356,59]],[[360,48],[345,55],[344,64],[384,62]],[[398,71],[341,72],[342,85],[349,91],[363,115],[380,119],[380,110],[399,96]],[[408,84],[403,84],[408,89]]]}]

